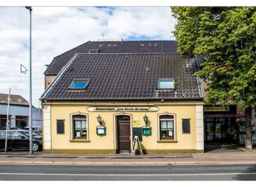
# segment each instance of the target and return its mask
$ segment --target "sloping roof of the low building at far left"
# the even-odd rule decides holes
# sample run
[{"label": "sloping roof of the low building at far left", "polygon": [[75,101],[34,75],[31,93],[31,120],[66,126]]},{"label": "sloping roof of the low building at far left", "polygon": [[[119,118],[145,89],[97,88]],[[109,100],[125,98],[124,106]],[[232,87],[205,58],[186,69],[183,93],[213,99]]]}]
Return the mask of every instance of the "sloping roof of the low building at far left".
[{"label": "sloping roof of the low building at far left", "polygon": [[[0,94],[0,103],[7,104],[8,94]],[[21,95],[10,95],[10,104],[26,105],[29,106],[29,101],[23,98]]]}]

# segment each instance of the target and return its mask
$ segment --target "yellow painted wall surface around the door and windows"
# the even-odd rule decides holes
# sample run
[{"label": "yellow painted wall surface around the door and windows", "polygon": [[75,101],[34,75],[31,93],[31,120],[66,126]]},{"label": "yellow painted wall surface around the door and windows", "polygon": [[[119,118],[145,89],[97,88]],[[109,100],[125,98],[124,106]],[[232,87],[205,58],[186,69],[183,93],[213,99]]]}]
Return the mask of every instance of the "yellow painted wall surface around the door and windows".
[{"label": "yellow painted wall surface around the door and windows", "polygon": [[[57,105],[55,105],[57,104]],[[74,104],[74,103],[73,103]],[[109,103],[108,103],[109,104]],[[149,106],[147,103],[140,103],[141,106]],[[162,103],[160,103],[162,104]],[[94,106],[88,105],[68,105],[54,103],[51,106],[51,148],[52,149],[116,149],[115,142],[115,115],[121,112],[88,112],[87,107]],[[116,106],[112,104],[112,106]],[[118,105],[120,106],[120,105]],[[129,103],[129,106],[132,106]],[[152,105],[151,105],[152,106]],[[141,142],[143,149],[196,149],[196,105],[193,104],[177,104],[162,106],[154,103],[158,107],[157,112],[124,112],[124,114],[132,115],[130,118],[133,120],[140,120],[140,125],[132,124],[132,127],[144,126],[143,116],[146,114],[149,117],[149,126],[152,127],[151,136],[143,136]],[[90,142],[70,142],[71,139],[71,114],[80,112],[81,114],[88,115],[88,140]],[[158,143],[158,114],[176,115],[176,140],[177,143]],[[107,127],[107,135],[96,135],[96,126],[99,123],[96,119],[101,115],[104,121],[104,126]],[[190,118],[190,134],[182,134],[182,118]],[[57,134],[56,120],[65,120],[65,134]],[[132,129],[131,129],[132,133]]]}]

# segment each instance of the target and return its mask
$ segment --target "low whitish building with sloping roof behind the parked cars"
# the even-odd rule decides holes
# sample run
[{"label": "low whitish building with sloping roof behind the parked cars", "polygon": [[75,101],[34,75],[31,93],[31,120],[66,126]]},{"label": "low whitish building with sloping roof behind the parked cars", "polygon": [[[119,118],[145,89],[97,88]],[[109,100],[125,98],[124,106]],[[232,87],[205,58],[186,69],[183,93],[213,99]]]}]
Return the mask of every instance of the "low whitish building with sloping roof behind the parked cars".
[{"label": "low whitish building with sloping roof behind the parked cars", "polygon": [[[0,94],[0,129],[6,127],[8,94]],[[29,121],[29,102],[21,95],[10,95],[10,127],[24,128]],[[32,107],[33,126],[42,126],[42,109]]]}]

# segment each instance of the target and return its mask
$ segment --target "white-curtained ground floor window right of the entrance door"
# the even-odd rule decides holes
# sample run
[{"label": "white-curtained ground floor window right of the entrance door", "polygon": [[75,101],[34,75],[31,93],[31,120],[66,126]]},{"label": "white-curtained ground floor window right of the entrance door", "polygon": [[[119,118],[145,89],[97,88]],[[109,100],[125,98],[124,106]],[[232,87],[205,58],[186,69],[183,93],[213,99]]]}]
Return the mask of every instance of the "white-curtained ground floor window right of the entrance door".
[{"label": "white-curtained ground floor window right of the entrance door", "polygon": [[174,139],[174,116],[160,115],[160,140]]}]

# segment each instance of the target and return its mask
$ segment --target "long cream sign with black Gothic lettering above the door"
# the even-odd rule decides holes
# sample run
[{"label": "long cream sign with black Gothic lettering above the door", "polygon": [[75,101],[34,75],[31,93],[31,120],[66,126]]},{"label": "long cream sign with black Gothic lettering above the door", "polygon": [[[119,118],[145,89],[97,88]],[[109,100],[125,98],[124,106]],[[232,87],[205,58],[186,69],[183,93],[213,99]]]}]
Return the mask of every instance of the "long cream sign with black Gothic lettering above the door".
[{"label": "long cream sign with black Gothic lettering above the door", "polygon": [[87,107],[89,112],[157,112],[158,107]]}]

